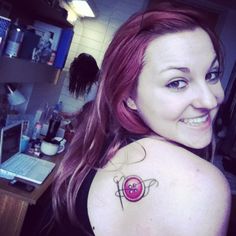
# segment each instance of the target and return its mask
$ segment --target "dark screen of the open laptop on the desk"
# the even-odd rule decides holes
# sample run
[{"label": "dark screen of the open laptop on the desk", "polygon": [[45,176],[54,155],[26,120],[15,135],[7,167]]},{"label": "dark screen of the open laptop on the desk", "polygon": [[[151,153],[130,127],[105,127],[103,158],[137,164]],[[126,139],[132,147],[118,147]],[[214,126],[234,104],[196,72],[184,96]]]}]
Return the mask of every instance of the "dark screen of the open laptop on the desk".
[{"label": "dark screen of the open laptop on the desk", "polygon": [[1,163],[20,152],[22,123],[6,126],[1,130]]}]

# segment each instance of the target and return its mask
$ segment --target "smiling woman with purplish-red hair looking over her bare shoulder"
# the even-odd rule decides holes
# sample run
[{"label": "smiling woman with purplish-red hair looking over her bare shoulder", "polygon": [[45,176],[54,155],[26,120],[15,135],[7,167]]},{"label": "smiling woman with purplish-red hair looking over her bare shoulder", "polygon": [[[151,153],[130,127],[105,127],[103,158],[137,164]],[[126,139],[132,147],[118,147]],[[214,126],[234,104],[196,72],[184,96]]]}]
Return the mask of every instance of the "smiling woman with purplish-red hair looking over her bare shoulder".
[{"label": "smiling woman with purplish-red hair looking over her bare shoulder", "polygon": [[193,152],[212,141],[222,69],[219,41],[193,10],[162,7],[121,26],[58,170],[60,230],[226,235],[228,183]]}]

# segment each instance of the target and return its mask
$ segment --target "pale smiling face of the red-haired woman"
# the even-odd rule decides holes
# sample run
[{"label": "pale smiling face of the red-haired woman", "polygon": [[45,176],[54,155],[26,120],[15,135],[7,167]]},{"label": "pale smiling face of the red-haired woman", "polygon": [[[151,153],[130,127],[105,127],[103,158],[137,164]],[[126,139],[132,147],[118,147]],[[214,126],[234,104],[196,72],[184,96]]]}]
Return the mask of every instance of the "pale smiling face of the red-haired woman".
[{"label": "pale smiling face of the red-haired woman", "polygon": [[150,43],[133,109],[156,134],[191,148],[207,146],[223,99],[219,63],[204,30],[170,33]]}]

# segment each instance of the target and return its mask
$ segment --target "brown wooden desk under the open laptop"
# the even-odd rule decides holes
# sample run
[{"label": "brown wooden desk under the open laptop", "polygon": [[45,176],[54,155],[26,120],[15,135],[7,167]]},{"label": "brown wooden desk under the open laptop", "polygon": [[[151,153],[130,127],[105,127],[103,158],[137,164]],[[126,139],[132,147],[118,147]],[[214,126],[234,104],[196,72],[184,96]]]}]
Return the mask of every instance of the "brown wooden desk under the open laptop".
[{"label": "brown wooden desk under the open laptop", "polygon": [[36,185],[31,193],[14,188],[8,184],[9,181],[0,179],[0,235],[20,235],[29,205],[36,204],[51,185],[63,155],[64,153],[61,153],[55,157],[43,158],[56,163],[56,166],[46,180]]}]

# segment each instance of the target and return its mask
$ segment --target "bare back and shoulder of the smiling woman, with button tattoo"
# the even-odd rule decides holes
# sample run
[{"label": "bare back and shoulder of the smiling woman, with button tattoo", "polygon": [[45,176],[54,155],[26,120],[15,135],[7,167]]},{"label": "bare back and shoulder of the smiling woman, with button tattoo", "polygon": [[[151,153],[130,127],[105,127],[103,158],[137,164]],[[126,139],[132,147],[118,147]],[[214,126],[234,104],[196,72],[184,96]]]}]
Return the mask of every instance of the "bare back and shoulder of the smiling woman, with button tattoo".
[{"label": "bare back and shoulder of the smiling woman, with button tattoo", "polygon": [[119,150],[88,198],[98,236],[225,235],[229,210],[229,186],[216,167],[152,138]]}]

